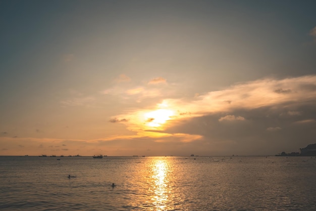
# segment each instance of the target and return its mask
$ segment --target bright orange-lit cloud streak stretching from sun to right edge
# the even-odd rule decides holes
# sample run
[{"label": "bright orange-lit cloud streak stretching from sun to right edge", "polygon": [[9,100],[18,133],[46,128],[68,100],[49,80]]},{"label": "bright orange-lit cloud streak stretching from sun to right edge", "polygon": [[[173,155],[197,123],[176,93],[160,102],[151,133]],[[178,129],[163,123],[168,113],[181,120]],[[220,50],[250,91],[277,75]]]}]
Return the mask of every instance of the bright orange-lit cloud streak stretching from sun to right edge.
[{"label": "bright orange-lit cloud streak stretching from sun to right edge", "polygon": [[166,99],[164,102],[170,107],[180,107],[180,112],[184,110],[191,112],[192,116],[202,116],[241,108],[255,109],[262,106],[306,104],[315,101],[316,90],[306,89],[306,86],[316,86],[316,75],[249,81],[200,95],[191,102],[184,102],[181,99]]}]

